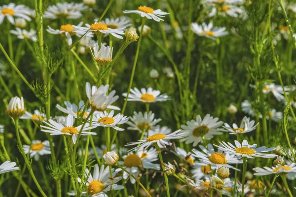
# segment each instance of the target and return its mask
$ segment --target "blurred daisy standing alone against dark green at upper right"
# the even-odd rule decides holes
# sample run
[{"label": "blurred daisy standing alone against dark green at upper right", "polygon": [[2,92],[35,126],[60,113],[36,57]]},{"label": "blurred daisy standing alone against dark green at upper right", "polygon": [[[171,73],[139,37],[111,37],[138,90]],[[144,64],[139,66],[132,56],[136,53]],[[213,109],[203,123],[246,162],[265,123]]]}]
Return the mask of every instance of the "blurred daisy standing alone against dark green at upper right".
[{"label": "blurred daisy standing alone against dark green at upper right", "polygon": [[205,36],[211,38],[212,40],[216,40],[216,37],[221,37],[227,35],[226,28],[213,28],[213,22],[210,22],[207,25],[205,22],[202,25],[198,25],[197,23],[191,23],[191,30],[199,36]]}]

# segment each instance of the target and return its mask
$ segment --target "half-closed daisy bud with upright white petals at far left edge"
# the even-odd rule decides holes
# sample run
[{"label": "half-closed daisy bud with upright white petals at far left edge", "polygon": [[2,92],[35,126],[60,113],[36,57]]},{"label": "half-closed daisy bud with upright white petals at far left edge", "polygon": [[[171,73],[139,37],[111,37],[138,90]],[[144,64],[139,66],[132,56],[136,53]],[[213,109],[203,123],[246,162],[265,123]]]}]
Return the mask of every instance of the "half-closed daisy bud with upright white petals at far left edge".
[{"label": "half-closed daisy bud with upright white petals at far left edge", "polygon": [[23,97],[13,97],[10,99],[5,112],[13,119],[21,117],[26,112]]}]

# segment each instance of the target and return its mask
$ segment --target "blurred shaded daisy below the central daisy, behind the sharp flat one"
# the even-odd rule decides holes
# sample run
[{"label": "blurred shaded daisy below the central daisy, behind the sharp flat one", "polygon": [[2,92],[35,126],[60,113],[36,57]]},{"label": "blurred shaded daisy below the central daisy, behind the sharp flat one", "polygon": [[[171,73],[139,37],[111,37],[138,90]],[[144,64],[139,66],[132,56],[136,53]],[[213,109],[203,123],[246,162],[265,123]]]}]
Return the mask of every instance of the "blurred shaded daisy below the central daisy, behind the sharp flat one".
[{"label": "blurred shaded daisy below the central daisy, behind the sharp flat one", "polygon": [[126,124],[129,125],[128,130],[138,130],[138,131],[148,131],[148,130],[154,130],[156,128],[156,124],[161,121],[160,118],[154,119],[154,113],[152,111],[149,111],[149,113],[145,112],[144,114],[142,112],[135,112],[133,117],[130,117],[130,121],[128,121]]}]

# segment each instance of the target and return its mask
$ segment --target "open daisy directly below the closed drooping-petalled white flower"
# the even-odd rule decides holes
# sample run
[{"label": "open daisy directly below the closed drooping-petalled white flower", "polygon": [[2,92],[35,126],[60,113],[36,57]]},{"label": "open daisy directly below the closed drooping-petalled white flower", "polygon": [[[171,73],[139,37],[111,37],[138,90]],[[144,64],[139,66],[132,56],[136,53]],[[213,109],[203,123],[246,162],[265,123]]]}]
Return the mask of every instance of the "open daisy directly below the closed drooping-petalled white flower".
[{"label": "open daisy directly below the closed drooping-petalled white flower", "polygon": [[128,118],[123,114],[114,115],[112,110],[110,113],[107,111],[99,111],[92,119],[92,125],[97,127],[111,127],[117,131],[124,131],[124,129],[116,127],[116,125],[122,125],[128,121]]}]

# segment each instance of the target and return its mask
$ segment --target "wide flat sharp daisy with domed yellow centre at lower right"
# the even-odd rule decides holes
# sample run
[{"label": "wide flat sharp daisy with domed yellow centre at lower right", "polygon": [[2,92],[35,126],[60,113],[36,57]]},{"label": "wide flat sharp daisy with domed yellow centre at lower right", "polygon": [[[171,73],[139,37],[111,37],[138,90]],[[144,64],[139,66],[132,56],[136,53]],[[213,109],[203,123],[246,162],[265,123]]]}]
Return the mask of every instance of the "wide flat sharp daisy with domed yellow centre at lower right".
[{"label": "wide flat sharp daisy with domed yellow centre at lower right", "polygon": [[239,143],[237,140],[234,141],[235,146],[233,146],[229,142],[219,142],[220,146],[217,146],[219,150],[224,151],[225,153],[229,153],[230,155],[237,155],[241,157],[247,157],[250,159],[254,159],[254,157],[262,157],[262,158],[274,158],[276,154],[268,154],[265,152],[273,151],[275,148],[266,148],[265,146],[261,146],[257,148],[257,144],[250,145],[247,140],[243,140],[243,143]]}]

